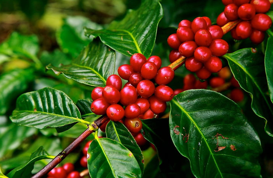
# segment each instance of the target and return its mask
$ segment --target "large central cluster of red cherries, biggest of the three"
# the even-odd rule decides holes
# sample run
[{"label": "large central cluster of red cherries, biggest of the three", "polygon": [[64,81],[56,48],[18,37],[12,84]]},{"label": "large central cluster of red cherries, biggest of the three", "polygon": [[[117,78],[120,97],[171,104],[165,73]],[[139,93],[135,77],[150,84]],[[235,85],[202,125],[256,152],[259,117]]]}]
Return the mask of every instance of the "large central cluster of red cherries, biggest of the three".
[{"label": "large central cluster of red cherries, biggest of the three", "polygon": [[[107,78],[105,87],[96,87],[91,93],[91,110],[96,115],[107,115],[112,121],[122,122],[131,133],[142,128],[140,118],[153,118],[166,110],[166,102],[173,98],[173,90],[166,84],[174,77],[171,67],[161,67],[158,56],[148,59],[140,53],[130,58],[130,64],[121,65]],[[122,87],[122,79],[128,80]],[[104,130],[105,125],[101,127]]]}]

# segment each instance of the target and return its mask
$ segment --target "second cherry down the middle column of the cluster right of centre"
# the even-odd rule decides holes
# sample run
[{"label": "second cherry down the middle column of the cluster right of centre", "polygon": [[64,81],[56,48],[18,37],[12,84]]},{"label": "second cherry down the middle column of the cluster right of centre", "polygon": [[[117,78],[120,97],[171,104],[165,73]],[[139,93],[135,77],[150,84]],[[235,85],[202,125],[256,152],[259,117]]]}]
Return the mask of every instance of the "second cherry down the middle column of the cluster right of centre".
[{"label": "second cherry down the middle column of the cluster right of centre", "polygon": [[212,42],[212,35],[206,29],[198,30],[194,35],[194,40],[198,46],[208,47]]}]

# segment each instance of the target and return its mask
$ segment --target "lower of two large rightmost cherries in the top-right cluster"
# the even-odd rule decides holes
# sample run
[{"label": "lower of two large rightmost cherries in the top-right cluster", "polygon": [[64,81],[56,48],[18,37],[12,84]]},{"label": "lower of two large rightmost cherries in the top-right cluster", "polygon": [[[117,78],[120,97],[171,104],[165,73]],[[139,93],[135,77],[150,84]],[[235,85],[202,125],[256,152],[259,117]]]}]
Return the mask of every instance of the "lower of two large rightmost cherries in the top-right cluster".
[{"label": "lower of two large rightmost cherries in the top-right cluster", "polygon": [[271,27],[272,20],[266,14],[256,14],[251,20],[251,26],[260,31],[266,31]]}]

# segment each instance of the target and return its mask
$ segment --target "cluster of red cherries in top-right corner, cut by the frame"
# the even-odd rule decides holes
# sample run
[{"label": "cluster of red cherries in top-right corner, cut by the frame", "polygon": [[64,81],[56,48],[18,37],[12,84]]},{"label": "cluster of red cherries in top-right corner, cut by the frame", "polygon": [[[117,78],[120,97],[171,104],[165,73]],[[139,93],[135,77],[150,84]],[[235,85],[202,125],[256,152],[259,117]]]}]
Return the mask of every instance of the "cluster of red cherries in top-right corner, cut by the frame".
[{"label": "cluster of red cherries in top-right corner, cut by the frame", "polygon": [[234,39],[247,39],[254,44],[264,40],[265,31],[271,27],[271,18],[264,14],[270,9],[268,0],[222,0],[224,11],[218,16],[217,24],[224,26],[231,20],[240,19],[236,28],[232,29]]}]

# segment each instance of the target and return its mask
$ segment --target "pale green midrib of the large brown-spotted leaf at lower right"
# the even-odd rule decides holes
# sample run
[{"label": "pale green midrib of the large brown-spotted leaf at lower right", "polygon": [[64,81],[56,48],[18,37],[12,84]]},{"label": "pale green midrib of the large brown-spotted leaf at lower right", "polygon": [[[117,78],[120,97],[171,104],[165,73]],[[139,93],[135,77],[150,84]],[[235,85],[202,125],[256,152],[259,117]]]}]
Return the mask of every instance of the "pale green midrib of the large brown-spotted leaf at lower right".
[{"label": "pale green midrib of the large brown-spotted leaf at lower right", "polygon": [[212,156],[213,162],[215,163],[215,166],[216,166],[216,168],[217,168],[219,174],[220,174],[221,177],[223,178],[222,173],[221,173],[221,171],[220,171],[220,169],[219,169],[219,166],[218,166],[218,164],[217,164],[217,162],[216,162],[216,160],[215,160],[214,154],[213,154],[212,150],[210,149],[210,147],[209,147],[209,145],[208,145],[207,139],[205,138],[205,135],[201,132],[200,128],[198,127],[198,125],[196,124],[196,122],[194,122],[194,120],[193,120],[193,118],[191,117],[191,115],[189,115],[189,113],[188,113],[182,106],[180,106],[180,104],[179,104],[177,101],[175,101],[175,100],[172,100],[172,101],[173,101],[173,102],[174,102],[174,103],[175,103],[175,104],[176,104],[176,105],[177,105],[177,106],[178,106],[178,107],[187,115],[187,117],[190,119],[191,123],[194,125],[194,127],[197,129],[197,131],[199,132],[199,134],[200,134],[201,137],[203,138],[205,144],[206,144],[207,147],[208,147],[208,150],[209,150],[209,152],[210,152],[210,155]]}]

